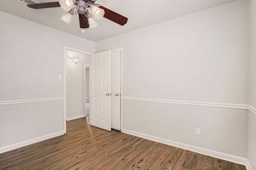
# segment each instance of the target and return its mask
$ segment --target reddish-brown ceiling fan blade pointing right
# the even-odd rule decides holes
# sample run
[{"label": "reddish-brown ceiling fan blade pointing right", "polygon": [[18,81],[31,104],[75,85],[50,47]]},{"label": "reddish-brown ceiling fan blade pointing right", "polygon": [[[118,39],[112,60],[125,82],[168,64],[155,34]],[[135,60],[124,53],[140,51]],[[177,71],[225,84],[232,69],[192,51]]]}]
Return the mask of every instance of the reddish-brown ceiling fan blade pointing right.
[{"label": "reddish-brown ceiling fan blade pointing right", "polygon": [[121,16],[120,14],[117,14],[114,11],[109,10],[108,8],[105,8],[104,6],[101,6],[99,4],[96,4],[95,6],[98,6],[99,8],[101,8],[105,11],[105,14],[103,17],[107,18],[108,20],[118,23],[119,25],[124,25],[128,21],[128,18]]}]

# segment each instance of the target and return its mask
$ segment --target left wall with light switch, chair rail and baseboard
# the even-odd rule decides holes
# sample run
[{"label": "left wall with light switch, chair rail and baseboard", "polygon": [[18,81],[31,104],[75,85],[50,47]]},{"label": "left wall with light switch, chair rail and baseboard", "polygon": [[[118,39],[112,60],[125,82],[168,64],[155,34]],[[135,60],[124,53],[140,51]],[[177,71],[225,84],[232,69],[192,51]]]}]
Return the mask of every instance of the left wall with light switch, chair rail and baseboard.
[{"label": "left wall with light switch, chair rail and baseboard", "polygon": [[95,43],[4,12],[0,18],[4,152],[64,133],[64,46],[93,53]]}]

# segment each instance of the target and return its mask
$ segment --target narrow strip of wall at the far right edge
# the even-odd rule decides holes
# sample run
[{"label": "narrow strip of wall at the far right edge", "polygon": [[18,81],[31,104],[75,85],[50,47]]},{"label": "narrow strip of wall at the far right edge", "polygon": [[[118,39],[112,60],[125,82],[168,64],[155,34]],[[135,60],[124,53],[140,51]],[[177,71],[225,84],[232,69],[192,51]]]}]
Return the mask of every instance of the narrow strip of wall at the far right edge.
[{"label": "narrow strip of wall at the far right edge", "polygon": [[250,16],[250,81],[249,81],[249,106],[251,107],[248,115],[248,160],[252,169],[256,170],[256,2],[249,1]]}]

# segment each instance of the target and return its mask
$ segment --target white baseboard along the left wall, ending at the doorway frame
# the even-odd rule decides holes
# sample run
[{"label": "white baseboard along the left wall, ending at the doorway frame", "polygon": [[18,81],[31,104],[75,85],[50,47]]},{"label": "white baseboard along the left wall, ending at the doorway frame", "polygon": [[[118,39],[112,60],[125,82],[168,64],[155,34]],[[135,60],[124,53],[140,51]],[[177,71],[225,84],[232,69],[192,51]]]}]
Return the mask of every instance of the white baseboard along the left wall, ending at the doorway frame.
[{"label": "white baseboard along the left wall, ending at the doorway frame", "polygon": [[20,143],[14,143],[12,145],[0,147],[0,154],[4,153],[4,152],[8,152],[10,150],[25,147],[25,146],[28,146],[28,145],[31,145],[31,144],[34,144],[34,143],[45,141],[47,139],[51,139],[51,138],[54,138],[54,137],[57,137],[57,136],[60,136],[60,135],[64,135],[64,131],[59,131],[59,132],[56,132],[56,133],[51,133],[51,134],[48,134],[48,135],[44,135],[42,137],[37,137],[37,138],[30,139],[30,140],[27,140],[27,141],[22,141]]}]

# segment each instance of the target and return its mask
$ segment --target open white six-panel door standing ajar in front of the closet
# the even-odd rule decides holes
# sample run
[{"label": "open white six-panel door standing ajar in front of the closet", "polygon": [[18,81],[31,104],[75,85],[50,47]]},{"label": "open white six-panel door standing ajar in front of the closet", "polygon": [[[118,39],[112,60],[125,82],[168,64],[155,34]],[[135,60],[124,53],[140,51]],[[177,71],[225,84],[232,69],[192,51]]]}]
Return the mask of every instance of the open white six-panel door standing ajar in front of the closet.
[{"label": "open white six-panel door standing ajar in front of the closet", "polygon": [[111,131],[111,51],[90,57],[90,123]]}]

